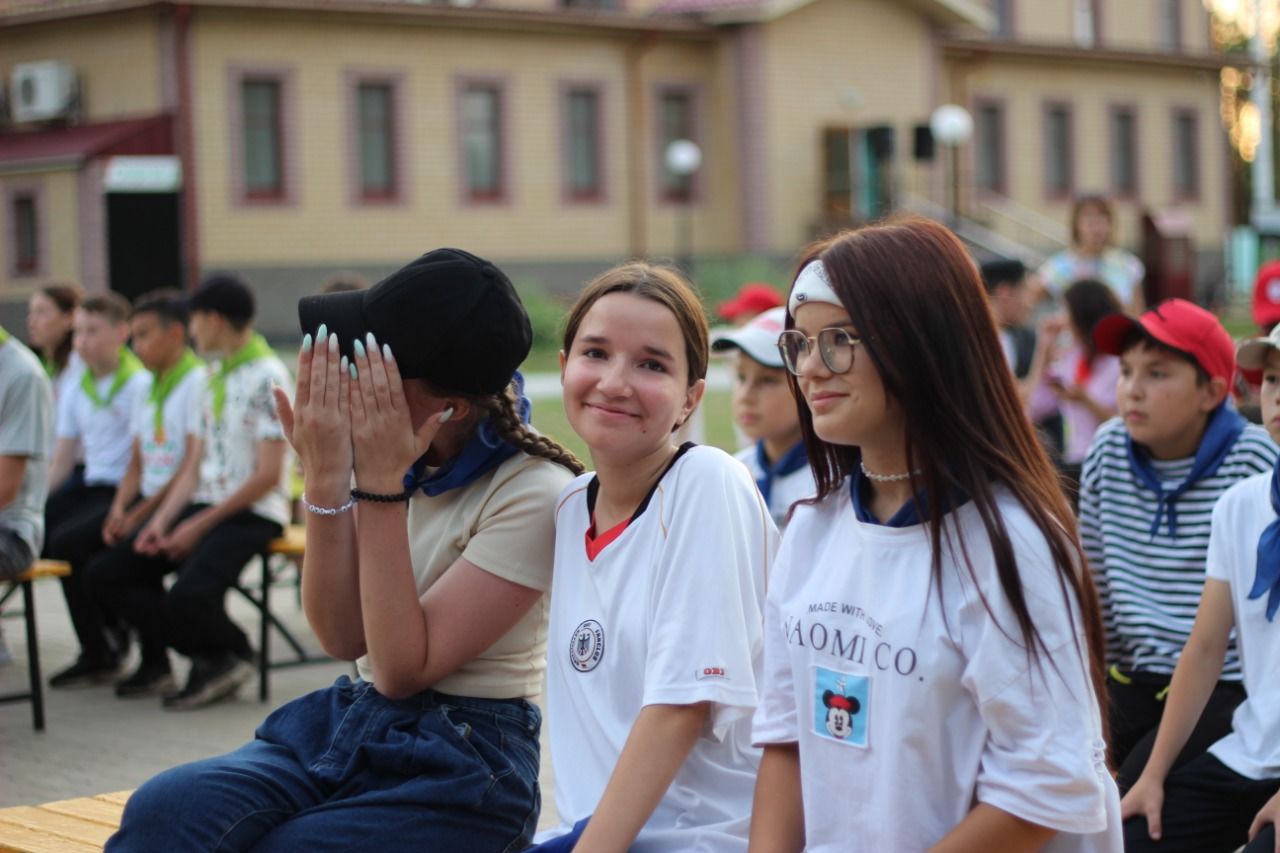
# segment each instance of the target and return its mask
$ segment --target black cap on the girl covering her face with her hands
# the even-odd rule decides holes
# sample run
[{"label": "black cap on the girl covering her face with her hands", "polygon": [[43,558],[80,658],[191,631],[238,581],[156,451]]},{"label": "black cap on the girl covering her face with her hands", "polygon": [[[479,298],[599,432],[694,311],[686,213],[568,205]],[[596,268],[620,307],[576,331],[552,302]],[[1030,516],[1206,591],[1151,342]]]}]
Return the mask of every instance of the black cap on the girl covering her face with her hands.
[{"label": "black cap on the girl covering her face with her hands", "polygon": [[430,251],[367,291],[303,297],[298,320],[312,336],[325,324],[348,356],[372,332],[402,377],[477,394],[506,388],[534,338],[511,279],[461,248]]}]

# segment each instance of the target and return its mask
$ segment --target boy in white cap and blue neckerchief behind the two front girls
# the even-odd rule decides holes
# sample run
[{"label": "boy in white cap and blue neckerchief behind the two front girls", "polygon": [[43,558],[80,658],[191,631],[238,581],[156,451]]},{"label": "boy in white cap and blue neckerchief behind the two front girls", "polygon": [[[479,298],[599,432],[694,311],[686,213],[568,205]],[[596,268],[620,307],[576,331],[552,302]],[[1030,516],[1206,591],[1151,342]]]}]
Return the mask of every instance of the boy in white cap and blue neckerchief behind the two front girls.
[{"label": "boy in white cap and blue neckerchief behind the two front girls", "polygon": [[755,478],[780,530],[791,505],[817,492],[778,351],[786,318],[785,307],[769,309],[741,329],[712,336],[713,352],[733,352],[733,420],[754,442],[739,451],[737,459]]}]

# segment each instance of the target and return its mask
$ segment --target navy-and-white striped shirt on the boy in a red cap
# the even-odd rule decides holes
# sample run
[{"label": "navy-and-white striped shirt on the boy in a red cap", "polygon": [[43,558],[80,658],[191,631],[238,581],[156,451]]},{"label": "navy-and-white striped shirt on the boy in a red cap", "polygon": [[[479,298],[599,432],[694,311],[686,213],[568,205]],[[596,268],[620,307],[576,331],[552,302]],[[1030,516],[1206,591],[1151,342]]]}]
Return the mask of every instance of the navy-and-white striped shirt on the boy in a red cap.
[{"label": "navy-and-white striped shirt on the boy in a red cap", "polygon": [[[1271,471],[1280,450],[1248,424],[1222,465],[1178,498],[1178,534],[1169,516],[1151,534],[1156,494],[1129,467],[1124,421],[1098,428],[1080,473],[1080,539],[1093,566],[1107,630],[1107,663],[1124,671],[1171,675],[1190,637],[1204,587],[1210,523],[1217,498],[1235,483]],[[1193,459],[1153,461],[1169,487],[1190,473]],[[1222,679],[1240,680],[1233,637]]]}]

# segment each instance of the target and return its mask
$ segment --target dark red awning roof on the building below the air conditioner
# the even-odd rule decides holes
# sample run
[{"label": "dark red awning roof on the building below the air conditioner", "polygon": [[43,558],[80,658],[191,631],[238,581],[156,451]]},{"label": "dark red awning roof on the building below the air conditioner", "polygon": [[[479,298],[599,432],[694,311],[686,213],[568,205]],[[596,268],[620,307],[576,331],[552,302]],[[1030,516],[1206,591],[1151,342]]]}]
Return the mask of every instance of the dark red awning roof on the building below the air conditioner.
[{"label": "dark red awning roof on the building below the air conditioner", "polygon": [[173,120],[151,115],[0,133],[0,170],[67,167],[116,154],[173,154]]}]

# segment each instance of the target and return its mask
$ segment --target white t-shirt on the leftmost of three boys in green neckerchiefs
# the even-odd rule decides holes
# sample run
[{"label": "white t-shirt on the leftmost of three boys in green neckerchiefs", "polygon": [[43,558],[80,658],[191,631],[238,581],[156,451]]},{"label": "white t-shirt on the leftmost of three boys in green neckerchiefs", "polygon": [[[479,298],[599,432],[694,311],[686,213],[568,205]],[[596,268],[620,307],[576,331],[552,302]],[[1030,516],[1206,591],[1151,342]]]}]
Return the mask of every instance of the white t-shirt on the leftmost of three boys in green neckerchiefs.
[{"label": "white t-shirt on the leftmost of three boys in green neckerchiefs", "polygon": [[[114,371],[95,380],[99,400],[106,400],[113,382]],[[133,434],[129,430],[133,412],[150,391],[151,374],[138,370],[105,406],[88,398],[81,388],[79,377],[59,398],[54,434],[81,443],[84,451],[86,485],[116,485],[124,476],[133,451]]]}]

